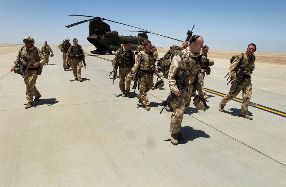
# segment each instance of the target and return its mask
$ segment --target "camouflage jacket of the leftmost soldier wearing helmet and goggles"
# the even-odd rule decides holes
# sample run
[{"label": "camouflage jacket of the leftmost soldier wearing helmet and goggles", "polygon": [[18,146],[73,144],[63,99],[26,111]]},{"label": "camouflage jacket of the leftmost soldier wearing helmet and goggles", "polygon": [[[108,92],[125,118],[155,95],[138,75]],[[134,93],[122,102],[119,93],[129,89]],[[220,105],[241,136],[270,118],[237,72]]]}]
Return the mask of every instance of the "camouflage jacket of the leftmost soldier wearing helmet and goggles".
[{"label": "camouflage jacket of the leftmost soldier wearing helmet and goggles", "polygon": [[13,67],[18,66],[19,59],[23,62],[23,65],[26,67],[29,65],[29,62],[31,62],[29,68],[36,68],[34,66],[36,62],[39,62],[41,67],[43,67],[44,64],[46,64],[46,61],[43,57],[43,53],[41,52],[40,49],[38,49],[34,45],[30,49],[28,49],[27,47],[24,47],[22,52],[21,52],[21,49],[22,47],[18,51],[18,54],[14,60]]}]

